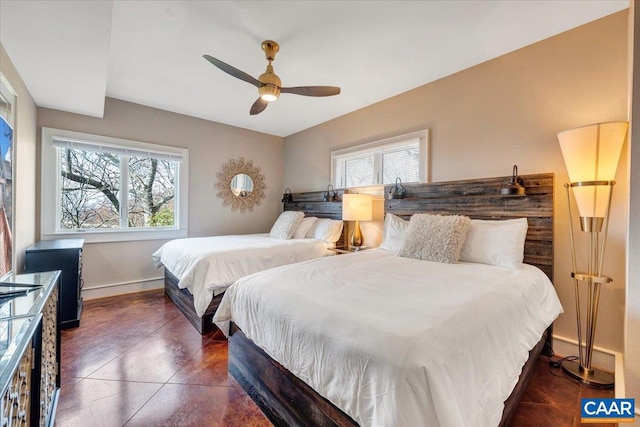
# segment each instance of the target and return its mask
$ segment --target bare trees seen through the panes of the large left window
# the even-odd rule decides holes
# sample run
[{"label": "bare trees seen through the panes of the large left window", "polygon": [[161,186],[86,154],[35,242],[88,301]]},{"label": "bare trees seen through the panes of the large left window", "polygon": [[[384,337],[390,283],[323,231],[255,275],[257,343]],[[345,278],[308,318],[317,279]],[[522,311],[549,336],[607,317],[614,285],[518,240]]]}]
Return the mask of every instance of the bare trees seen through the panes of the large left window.
[{"label": "bare trees seen through the panes of the large left window", "polygon": [[61,229],[120,228],[121,162],[128,160],[127,227],[175,225],[175,162],[62,148]]}]

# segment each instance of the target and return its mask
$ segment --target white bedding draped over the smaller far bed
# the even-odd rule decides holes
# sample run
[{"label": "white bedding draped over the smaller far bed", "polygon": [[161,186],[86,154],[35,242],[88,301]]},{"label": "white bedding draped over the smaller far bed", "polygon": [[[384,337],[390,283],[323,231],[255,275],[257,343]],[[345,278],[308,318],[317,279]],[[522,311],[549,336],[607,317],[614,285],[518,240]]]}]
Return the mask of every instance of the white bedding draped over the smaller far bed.
[{"label": "white bedding draped over the smaller far bed", "polygon": [[275,239],[269,234],[194,237],[165,243],[153,254],[193,295],[202,316],[214,295],[248,274],[324,256],[328,243],[317,239]]}]

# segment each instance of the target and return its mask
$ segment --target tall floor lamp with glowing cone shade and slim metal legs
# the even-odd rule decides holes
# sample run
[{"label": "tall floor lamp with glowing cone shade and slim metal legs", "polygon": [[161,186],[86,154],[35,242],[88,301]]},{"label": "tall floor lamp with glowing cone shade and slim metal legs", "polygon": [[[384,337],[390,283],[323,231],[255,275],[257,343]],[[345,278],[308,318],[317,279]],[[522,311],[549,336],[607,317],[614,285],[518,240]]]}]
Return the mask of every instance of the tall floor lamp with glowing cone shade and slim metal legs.
[{"label": "tall floor lamp with glowing cone shade and slim metal legs", "polygon": [[[569,376],[591,387],[613,387],[613,374],[593,368],[593,339],[598,320],[600,286],[612,281],[602,274],[611,195],[620,152],[627,135],[627,122],[587,125],[558,134],[570,183],[565,184],[569,203],[571,261],[576,300],[579,363],[565,361],[562,369]],[[571,193],[578,206],[580,228],[587,233],[586,269],[578,270],[576,240],[571,212]],[[584,264],[584,262],[583,262]],[[583,265],[584,267],[584,265]],[[585,289],[582,289],[585,288]],[[586,319],[583,326],[580,294],[586,293]],[[583,335],[584,329],[584,335]]]}]

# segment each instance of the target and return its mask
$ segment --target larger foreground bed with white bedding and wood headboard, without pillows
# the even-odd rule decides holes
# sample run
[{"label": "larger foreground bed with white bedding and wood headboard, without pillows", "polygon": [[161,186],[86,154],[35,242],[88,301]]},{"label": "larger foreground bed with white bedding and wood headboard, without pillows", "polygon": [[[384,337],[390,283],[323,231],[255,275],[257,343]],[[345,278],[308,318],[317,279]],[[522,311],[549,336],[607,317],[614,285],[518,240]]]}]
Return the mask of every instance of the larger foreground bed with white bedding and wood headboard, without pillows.
[{"label": "larger foreground bed with white bedding and wood headboard, without pillows", "polygon": [[562,310],[553,175],[524,178],[526,197],[495,196],[496,178],[413,186],[386,203],[407,216],[526,217],[517,268],[370,250],[236,282],[214,318],[232,375],[276,425],[506,425]]}]

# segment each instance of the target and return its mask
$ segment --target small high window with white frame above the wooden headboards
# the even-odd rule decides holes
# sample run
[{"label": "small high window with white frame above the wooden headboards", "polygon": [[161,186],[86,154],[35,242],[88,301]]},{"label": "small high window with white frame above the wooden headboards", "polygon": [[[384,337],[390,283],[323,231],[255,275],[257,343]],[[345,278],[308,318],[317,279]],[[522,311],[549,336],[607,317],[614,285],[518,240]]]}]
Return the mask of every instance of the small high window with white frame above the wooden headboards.
[{"label": "small high window with white frame above the wooden headboards", "polygon": [[340,188],[427,181],[429,131],[331,153],[333,185]]}]

